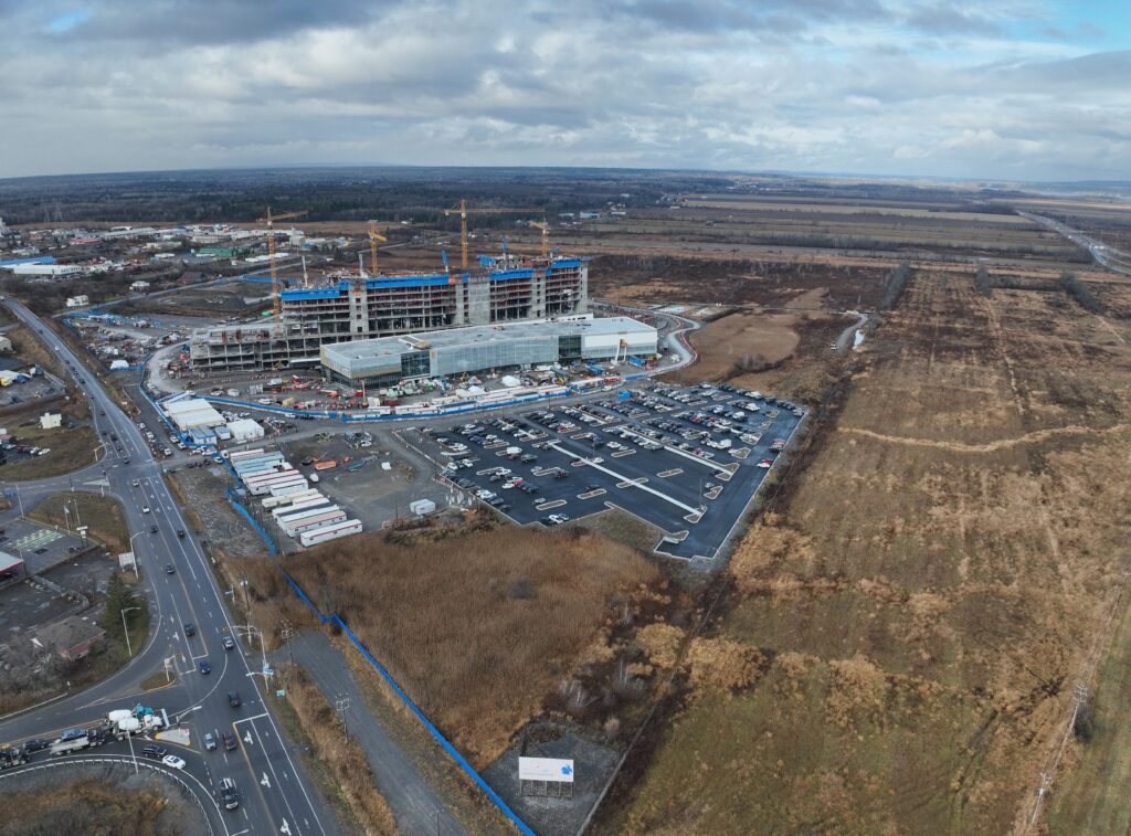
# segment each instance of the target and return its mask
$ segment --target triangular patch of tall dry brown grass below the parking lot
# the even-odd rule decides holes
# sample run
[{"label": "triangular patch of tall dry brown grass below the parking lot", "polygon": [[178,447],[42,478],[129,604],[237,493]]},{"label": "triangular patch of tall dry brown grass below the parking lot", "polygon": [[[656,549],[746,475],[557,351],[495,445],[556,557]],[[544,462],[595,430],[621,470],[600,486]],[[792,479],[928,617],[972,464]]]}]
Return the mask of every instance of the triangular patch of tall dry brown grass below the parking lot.
[{"label": "triangular patch of tall dry brown grass below the parking lot", "polygon": [[542,710],[612,598],[658,578],[604,537],[520,528],[412,546],[362,535],[288,568],[480,764]]}]

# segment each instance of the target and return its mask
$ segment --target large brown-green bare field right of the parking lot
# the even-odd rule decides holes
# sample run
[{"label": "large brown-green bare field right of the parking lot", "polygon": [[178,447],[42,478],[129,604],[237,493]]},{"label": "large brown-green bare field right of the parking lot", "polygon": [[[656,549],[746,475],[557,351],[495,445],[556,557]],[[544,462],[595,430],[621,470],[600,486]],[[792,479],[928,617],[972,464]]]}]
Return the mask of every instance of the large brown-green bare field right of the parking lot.
[{"label": "large brown-green bare field right of the parking lot", "polygon": [[[1011,830],[1125,583],[1128,336],[1062,294],[916,273],[733,558],[711,635],[765,669],[691,687],[605,831]],[[1057,831],[1128,829],[1125,676],[1069,742]]]}]

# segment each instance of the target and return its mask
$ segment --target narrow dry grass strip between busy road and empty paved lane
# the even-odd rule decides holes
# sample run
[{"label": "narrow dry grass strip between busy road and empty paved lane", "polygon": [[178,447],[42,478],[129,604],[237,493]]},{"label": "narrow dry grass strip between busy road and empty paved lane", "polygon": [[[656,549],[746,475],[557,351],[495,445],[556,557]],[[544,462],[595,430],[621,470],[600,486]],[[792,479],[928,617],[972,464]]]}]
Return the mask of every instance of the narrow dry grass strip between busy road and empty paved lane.
[{"label": "narrow dry grass strip between busy road and empty paved lane", "polygon": [[318,758],[329,766],[365,833],[374,836],[397,833],[392,810],[373,783],[373,770],[365,760],[365,753],[357,743],[346,738],[334,708],[307,672],[296,665],[282,665],[279,682],[313,742]]}]

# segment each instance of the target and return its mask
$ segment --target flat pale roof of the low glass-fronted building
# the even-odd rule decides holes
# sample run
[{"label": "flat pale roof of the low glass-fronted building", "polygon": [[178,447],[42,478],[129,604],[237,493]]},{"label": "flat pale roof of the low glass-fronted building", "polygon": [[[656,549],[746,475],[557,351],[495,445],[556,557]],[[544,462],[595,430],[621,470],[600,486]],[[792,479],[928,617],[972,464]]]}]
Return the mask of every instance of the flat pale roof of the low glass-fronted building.
[{"label": "flat pale roof of the low glass-fronted building", "polygon": [[460,348],[482,343],[499,343],[511,339],[530,339],[545,336],[595,336],[616,335],[625,331],[654,331],[650,325],[645,325],[631,317],[599,317],[595,319],[542,319],[500,322],[499,325],[477,325],[467,328],[444,328],[434,331],[416,331],[392,337],[375,339],[357,339],[352,343],[333,343],[323,345],[327,356],[347,360],[372,360],[377,357],[400,356],[409,351],[429,351],[433,348]]}]

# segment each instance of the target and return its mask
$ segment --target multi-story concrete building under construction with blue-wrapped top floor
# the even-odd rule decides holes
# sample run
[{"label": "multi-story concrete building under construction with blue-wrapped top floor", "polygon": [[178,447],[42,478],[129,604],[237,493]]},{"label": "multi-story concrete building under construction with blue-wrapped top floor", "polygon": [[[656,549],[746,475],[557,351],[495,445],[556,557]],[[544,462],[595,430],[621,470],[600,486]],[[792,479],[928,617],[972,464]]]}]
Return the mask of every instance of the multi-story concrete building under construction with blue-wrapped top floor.
[{"label": "multi-story concrete building under construction with blue-wrapped top floor", "polygon": [[475,272],[352,277],[283,291],[279,308],[278,319],[193,330],[192,368],[313,367],[323,343],[586,313],[588,266],[577,258],[509,257]]}]

